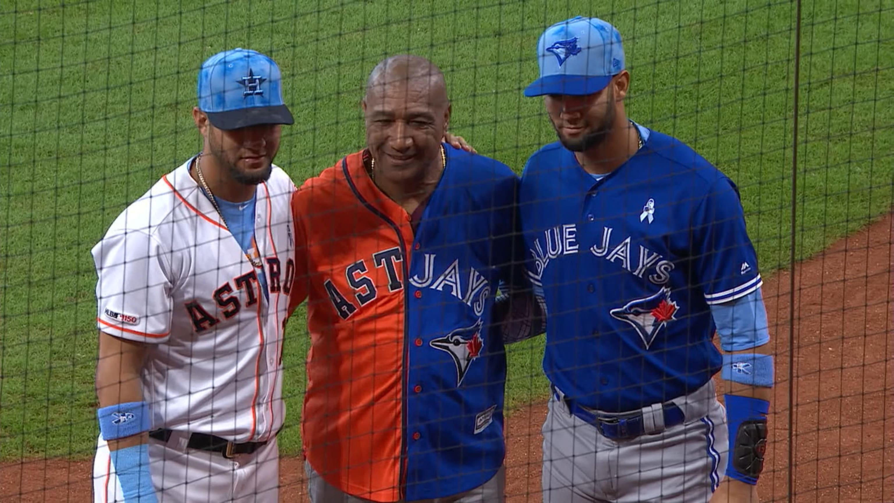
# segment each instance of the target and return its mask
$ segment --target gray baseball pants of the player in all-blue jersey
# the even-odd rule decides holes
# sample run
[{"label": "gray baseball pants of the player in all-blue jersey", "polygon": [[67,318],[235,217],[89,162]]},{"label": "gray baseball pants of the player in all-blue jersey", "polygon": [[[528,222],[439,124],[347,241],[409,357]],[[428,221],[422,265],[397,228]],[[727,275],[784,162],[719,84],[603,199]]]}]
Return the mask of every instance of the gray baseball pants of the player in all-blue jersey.
[{"label": "gray baseball pants of the player in all-blue jersey", "polygon": [[603,437],[553,395],[543,427],[544,503],[709,501],[729,451],[726,411],[714,393],[711,380],[672,400],[685,413],[683,424],[621,441]]}]

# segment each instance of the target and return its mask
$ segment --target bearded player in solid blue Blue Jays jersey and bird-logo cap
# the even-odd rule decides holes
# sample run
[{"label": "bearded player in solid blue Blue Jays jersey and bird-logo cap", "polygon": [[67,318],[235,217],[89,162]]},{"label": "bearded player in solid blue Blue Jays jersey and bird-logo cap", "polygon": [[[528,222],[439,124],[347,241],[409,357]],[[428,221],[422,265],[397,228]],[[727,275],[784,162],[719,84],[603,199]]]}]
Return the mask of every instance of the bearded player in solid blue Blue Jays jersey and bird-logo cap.
[{"label": "bearded player in solid blue Blue Jays jersey and bird-logo cap", "polygon": [[559,136],[519,185],[552,383],[544,501],[755,502],[773,361],[738,188],[628,120],[608,22],[557,23],[537,56],[525,95]]}]

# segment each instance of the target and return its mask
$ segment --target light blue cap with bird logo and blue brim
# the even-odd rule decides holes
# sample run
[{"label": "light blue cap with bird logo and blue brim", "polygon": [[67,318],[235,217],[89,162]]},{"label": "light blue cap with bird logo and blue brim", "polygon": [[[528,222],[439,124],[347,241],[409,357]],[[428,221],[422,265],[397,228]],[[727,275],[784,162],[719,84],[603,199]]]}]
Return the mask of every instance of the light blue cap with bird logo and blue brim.
[{"label": "light blue cap with bird logo and blue brim", "polygon": [[540,78],[525,96],[585,96],[605,89],[624,70],[620,33],[608,22],[573,17],[547,28],[537,42]]}]

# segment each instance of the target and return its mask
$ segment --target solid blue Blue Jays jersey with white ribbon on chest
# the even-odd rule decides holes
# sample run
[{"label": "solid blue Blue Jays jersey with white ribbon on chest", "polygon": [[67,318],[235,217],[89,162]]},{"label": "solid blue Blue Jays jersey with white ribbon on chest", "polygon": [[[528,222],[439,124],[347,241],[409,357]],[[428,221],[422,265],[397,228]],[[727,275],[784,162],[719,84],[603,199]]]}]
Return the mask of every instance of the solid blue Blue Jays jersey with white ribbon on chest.
[{"label": "solid blue Blue Jays jersey with white ribbon on chest", "polygon": [[544,371],[572,399],[624,412],[721,369],[710,305],[761,286],[738,188],[684,143],[645,143],[599,180],[556,142],[527,160],[519,214],[546,306]]}]

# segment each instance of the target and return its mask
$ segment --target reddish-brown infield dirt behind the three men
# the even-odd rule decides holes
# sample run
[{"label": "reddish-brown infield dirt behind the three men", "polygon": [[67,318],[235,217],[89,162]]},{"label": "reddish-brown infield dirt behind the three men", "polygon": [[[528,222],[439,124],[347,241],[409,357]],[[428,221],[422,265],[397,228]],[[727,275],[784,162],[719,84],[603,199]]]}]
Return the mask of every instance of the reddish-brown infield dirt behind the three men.
[{"label": "reddish-brown infield dirt behind the three men", "polygon": [[[795,270],[795,331],[789,334],[789,272],[763,286],[776,351],[777,385],[761,499],[788,496],[789,388],[794,385],[795,498],[806,502],[894,501],[894,222],[882,218]],[[797,341],[789,381],[789,339]],[[887,400],[886,400],[887,399]],[[540,501],[543,404],[512,413],[507,496]],[[90,501],[89,461],[0,466],[0,502]],[[283,459],[283,502],[304,502],[300,459]]]}]

